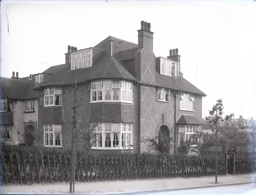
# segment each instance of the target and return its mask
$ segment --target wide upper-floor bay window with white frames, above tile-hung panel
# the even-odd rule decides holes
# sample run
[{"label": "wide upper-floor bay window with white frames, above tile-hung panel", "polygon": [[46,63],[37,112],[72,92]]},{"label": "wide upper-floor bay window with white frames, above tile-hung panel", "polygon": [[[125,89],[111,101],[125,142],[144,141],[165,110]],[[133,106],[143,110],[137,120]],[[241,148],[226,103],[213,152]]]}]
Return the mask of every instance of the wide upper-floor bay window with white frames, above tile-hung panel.
[{"label": "wide upper-floor bay window with white frames, above tile-hung panel", "polygon": [[91,82],[91,102],[132,103],[132,82],[101,80]]}]

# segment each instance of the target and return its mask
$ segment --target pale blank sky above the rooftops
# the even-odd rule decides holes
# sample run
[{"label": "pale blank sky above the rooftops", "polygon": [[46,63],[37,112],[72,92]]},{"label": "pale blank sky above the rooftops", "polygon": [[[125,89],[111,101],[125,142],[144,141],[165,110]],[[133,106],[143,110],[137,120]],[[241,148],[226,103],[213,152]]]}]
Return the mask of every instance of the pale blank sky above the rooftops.
[{"label": "pale blank sky above the rooftops", "polygon": [[184,78],[207,95],[202,117],[221,98],[224,114],[256,119],[256,1],[2,0],[0,9],[2,77],[64,64],[68,45],[93,47],[108,35],[138,43],[144,20],[156,57],[178,48]]}]

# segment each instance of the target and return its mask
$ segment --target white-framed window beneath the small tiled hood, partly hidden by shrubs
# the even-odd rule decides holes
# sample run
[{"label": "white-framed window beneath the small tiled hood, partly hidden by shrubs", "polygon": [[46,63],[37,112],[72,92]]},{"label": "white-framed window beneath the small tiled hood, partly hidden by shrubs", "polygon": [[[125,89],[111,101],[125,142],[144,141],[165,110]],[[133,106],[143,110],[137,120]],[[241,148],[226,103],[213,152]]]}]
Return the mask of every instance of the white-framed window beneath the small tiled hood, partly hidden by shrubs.
[{"label": "white-framed window beneath the small tiled hood, partly hidden by shrubs", "polygon": [[[198,131],[198,125],[179,125],[178,145],[180,146],[180,139],[183,136],[184,142],[187,139],[192,139],[192,135]],[[196,144],[196,140],[192,140],[192,146]]]}]

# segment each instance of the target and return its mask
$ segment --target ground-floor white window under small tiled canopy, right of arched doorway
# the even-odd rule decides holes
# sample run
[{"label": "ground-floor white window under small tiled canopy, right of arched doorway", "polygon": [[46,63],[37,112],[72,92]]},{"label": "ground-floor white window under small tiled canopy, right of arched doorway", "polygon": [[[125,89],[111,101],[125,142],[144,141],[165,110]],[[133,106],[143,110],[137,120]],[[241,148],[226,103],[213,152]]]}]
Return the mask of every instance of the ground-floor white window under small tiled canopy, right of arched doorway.
[{"label": "ground-floor white window under small tiled canopy, right of arched doorway", "polygon": [[186,140],[190,140],[191,144],[196,144],[195,136],[193,136],[195,133],[198,132],[198,126],[190,126],[190,125],[184,125],[179,126],[179,139],[178,144],[184,143]]}]

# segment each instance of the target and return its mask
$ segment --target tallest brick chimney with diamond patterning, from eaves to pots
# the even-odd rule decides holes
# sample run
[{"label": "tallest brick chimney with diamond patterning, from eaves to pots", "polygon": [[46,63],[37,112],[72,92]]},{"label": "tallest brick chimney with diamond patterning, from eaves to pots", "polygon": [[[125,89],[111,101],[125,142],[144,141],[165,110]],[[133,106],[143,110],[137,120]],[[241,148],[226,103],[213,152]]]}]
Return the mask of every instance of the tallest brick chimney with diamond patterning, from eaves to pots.
[{"label": "tallest brick chimney with diamond patterning, from eaves to pots", "polygon": [[138,47],[136,53],[135,74],[138,81],[148,84],[156,83],[156,60],[153,52],[153,32],[151,24],[140,22],[141,29],[138,30]]}]

